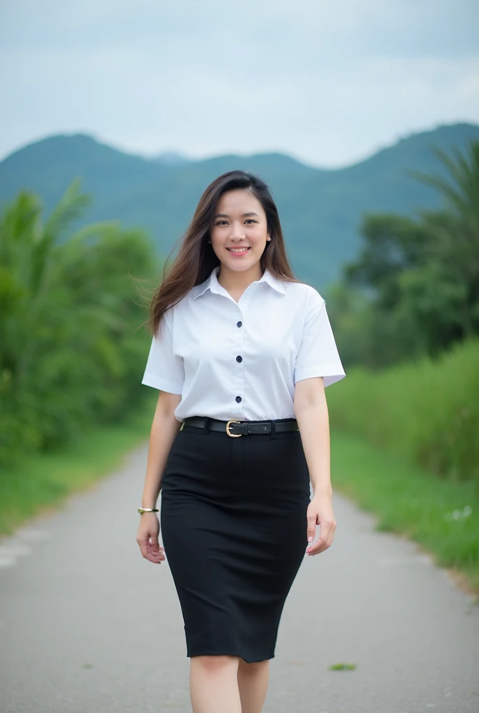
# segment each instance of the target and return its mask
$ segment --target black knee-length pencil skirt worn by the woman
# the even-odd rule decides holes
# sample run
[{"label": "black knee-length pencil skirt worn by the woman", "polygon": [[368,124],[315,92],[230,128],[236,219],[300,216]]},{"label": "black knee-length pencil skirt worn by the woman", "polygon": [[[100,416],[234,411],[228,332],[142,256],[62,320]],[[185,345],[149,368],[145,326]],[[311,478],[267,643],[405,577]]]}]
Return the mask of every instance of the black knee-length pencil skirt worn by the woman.
[{"label": "black knee-length pencil skirt worn by the woman", "polygon": [[308,544],[309,499],[299,431],[239,438],[187,425],[178,431],[160,525],[188,657],[274,657]]}]

